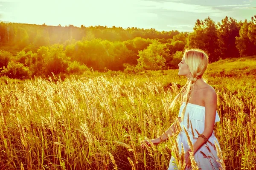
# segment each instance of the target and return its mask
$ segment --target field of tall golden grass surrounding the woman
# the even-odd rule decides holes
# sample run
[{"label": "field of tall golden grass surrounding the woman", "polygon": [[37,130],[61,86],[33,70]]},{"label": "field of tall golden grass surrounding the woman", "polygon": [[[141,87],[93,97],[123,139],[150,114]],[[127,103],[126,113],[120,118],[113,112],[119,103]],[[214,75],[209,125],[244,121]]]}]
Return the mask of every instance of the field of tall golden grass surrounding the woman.
[{"label": "field of tall golden grass surrounding the woman", "polygon": [[[0,169],[164,170],[174,142],[141,142],[177,117],[168,110],[185,82],[177,70],[1,79]],[[227,170],[256,169],[256,57],[209,65],[218,95],[215,126]]]}]

